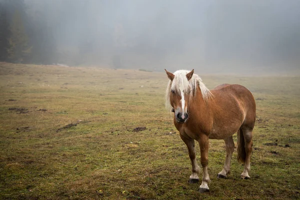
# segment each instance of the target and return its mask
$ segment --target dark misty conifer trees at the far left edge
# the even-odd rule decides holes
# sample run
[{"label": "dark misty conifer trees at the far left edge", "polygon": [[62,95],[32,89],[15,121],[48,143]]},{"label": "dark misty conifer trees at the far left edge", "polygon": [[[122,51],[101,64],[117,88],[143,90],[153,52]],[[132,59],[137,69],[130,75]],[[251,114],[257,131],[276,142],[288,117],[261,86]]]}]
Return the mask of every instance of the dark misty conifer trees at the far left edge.
[{"label": "dark misty conifer trees at the far left edge", "polygon": [[0,0],[0,61],[48,64],[57,59],[53,29],[40,9],[24,0]]}]

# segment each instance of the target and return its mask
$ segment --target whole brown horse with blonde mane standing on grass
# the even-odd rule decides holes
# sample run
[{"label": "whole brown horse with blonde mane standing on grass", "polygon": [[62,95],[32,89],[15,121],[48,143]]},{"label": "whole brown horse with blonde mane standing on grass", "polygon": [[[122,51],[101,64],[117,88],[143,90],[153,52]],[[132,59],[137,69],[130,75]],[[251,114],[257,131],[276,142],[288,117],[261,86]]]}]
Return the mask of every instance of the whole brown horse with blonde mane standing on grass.
[{"label": "whole brown horse with blonde mane standing on grass", "polygon": [[237,131],[237,159],[244,163],[241,178],[250,178],[252,130],[255,123],[255,101],[251,92],[238,84],[221,84],[209,90],[193,70],[178,70],[166,74],[165,105],[174,112],[174,125],[187,146],[192,173],[189,182],[198,182],[199,166],[195,158],[194,140],[200,146],[203,169],[200,192],[209,191],[207,172],[208,138],[223,139],[226,157],[218,178],[226,178],[234,149],[233,133]]}]

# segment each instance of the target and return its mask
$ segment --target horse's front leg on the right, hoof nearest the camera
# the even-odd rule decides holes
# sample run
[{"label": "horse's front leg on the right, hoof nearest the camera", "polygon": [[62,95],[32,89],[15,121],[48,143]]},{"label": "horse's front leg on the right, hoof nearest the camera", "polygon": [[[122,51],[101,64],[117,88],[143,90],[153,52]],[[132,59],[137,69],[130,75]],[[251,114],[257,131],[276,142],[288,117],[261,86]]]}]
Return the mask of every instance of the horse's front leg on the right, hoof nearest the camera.
[{"label": "horse's front leg on the right, hoof nearest the camera", "polygon": [[209,191],[208,182],[210,181],[207,164],[208,164],[208,136],[205,134],[200,134],[200,138],[198,140],[200,151],[201,151],[201,165],[203,170],[202,183],[198,189],[199,192]]}]

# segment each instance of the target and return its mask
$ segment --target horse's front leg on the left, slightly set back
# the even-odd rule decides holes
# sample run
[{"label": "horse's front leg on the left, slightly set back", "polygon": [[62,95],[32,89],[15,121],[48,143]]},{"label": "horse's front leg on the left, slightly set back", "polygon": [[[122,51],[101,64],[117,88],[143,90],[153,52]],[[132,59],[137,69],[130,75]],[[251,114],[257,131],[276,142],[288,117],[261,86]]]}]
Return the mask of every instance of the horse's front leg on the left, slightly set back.
[{"label": "horse's front leg on the left, slightly set back", "polygon": [[186,144],[188,149],[188,155],[191,161],[191,175],[189,176],[189,183],[195,183],[199,181],[198,173],[199,173],[199,166],[196,160],[196,153],[195,153],[195,141],[188,137],[183,136],[180,134],[182,141]]}]

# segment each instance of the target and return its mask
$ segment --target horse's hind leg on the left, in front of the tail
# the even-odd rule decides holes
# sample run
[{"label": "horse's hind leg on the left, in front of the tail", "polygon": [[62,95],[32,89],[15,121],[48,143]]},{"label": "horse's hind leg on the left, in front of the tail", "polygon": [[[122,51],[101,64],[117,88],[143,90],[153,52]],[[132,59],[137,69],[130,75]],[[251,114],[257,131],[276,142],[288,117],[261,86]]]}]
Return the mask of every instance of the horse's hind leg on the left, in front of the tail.
[{"label": "horse's hind leg on the left, in front of the tail", "polygon": [[227,174],[230,172],[230,162],[232,157],[232,152],[234,150],[234,142],[232,136],[224,139],[226,146],[226,158],[224,163],[224,168],[217,174],[217,178],[226,178]]}]

